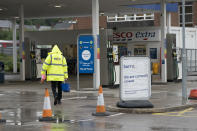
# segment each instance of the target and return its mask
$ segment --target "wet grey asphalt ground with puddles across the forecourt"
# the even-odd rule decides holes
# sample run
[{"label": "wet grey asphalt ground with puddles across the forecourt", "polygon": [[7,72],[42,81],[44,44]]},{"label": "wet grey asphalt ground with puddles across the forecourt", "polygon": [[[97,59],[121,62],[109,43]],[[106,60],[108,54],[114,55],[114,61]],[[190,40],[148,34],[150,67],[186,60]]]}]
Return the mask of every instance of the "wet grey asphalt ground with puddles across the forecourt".
[{"label": "wet grey asphalt ground with puddles across the forecourt", "polygon": [[[76,91],[76,79],[70,79],[71,92],[63,92],[61,105],[53,105],[50,83],[39,81],[7,81],[0,84],[0,131],[193,131],[197,130],[197,109],[168,112],[165,114],[127,114],[109,112],[110,116],[95,117],[98,92],[91,88],[92,78],[81,80],[81,90]],[[188,80],[189,89],[195,89],[197,77]],[[42,117],[44,89],[50,92],[52,122],[40,122]],[[152,86],[152,102],[158,106],[170,106],[181,96],[181,83]],[[158,104],[161,99],[163,102]],[[119,89],[104,88],[105,105],[119,101]],[[180,101],[179,101],[180,102]],[[196,101],[190,101],[196,103]],[[162,105],[163,104],[163,105]],[[173,114],[173,115],[172,115]],[[181,115],[180,115],[181,114]]]}]

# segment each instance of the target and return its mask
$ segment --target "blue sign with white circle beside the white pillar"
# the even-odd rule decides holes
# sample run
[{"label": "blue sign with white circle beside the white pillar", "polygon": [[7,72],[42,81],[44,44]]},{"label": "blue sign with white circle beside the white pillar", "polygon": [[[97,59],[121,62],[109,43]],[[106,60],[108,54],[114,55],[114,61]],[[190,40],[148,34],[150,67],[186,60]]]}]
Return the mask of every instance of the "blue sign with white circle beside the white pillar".
[{"label": "blue sign with white circle beside the white pillar", "polygon": [[80,35],[78,38],[79,73],[94,73],[94,37]]}]

